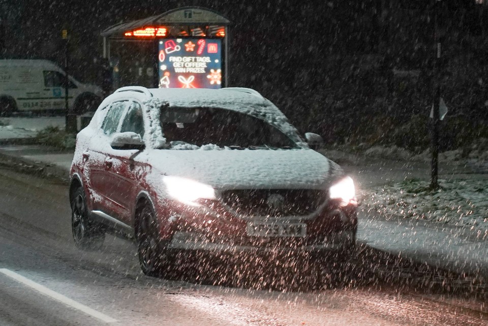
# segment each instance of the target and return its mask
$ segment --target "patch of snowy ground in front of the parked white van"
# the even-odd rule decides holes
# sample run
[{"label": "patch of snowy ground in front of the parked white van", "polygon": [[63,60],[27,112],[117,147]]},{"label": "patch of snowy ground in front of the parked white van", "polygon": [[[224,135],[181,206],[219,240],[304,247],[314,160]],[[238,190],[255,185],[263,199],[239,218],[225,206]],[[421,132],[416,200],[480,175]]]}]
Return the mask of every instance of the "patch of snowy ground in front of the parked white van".
[{"label": "patch of snowy ground in front of the parked white van", "polygon": [[0,139],[29,138],[46,127],[65,127],[64,116],[2,117]]}]

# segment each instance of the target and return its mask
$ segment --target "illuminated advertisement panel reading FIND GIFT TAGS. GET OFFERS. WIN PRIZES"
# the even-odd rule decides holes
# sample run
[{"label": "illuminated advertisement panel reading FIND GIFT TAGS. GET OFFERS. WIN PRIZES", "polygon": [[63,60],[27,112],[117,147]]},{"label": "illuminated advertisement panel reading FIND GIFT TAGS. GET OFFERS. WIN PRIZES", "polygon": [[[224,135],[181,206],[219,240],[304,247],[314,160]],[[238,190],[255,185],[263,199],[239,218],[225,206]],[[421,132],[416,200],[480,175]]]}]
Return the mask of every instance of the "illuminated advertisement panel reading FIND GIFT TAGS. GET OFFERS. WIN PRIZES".
[{"label": "illuminated advertisement panel reading FIND GIFT TAGS. GET OFFERS. WIN PRIZES", "polygon": [[158,62],[161,88],[222,87],[221,40],[161,40]]}]

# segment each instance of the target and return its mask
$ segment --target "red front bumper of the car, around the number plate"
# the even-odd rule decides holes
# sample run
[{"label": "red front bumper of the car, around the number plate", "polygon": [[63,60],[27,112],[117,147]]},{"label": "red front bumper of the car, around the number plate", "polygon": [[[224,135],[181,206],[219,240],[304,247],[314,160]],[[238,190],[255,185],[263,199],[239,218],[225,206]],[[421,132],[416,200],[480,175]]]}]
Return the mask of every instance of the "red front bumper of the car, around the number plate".
[{"label": "red front bumper of the car, around the number plate", "polygon": [[[168,209],[168,205],[166,205]],[[162,239],[170,249],[206,252],[337,252],[355,244],[357,205],[330,203],[309,217],[238,218],[228,211],[182,210],[173,206],[161,212]],[[248,233],[249,223],[306,225],[303,235],[255,236]]]}]

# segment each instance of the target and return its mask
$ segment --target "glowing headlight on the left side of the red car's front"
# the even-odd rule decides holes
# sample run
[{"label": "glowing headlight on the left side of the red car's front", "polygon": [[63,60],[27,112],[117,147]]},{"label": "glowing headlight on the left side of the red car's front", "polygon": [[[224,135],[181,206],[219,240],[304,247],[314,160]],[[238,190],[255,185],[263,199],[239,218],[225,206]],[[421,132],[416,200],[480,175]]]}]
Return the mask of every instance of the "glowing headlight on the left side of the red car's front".
[{"label": "glowing headlight on the left side of the red car's front", "polygon": [[168,194],[174,199],[192,206],[200,206],[197,199],[216,199],[215,189],[191,179],[179,176],[163,176]]}]

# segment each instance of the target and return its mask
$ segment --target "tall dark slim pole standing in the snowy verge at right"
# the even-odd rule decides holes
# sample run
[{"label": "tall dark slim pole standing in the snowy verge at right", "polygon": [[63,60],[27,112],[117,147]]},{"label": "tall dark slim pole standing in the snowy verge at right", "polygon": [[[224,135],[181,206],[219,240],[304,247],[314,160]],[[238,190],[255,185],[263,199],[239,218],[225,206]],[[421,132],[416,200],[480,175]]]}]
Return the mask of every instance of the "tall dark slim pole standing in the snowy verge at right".
[{"label": "tall dark slim pole standing in the snowy verge at right", "polygon": [[434,8],[434,39],[436,43],[436,60],[434,73],[434,114],[432,119],[432,175],[431,188],[433,190],[439,189],[439,103],[441,100],[441,82],[440,82],[440,66],[441,66],[441,43],[438,33],[438,3],[441,0],[436,0]]}]

